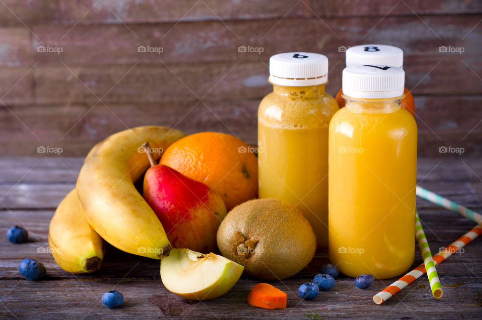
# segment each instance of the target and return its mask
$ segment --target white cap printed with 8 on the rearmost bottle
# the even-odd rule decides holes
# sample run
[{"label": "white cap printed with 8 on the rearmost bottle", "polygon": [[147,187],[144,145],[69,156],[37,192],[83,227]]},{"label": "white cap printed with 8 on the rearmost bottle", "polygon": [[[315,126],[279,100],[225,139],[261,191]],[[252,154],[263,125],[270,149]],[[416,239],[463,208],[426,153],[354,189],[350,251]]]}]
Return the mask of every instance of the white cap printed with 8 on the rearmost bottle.
[{"label": "white cap printed with 8 on the rearmost bottle", "polygon": [[393,65],[403,68],[403,50],[384,44],[363,44],[348,48],[345,53],[346,66]]}]

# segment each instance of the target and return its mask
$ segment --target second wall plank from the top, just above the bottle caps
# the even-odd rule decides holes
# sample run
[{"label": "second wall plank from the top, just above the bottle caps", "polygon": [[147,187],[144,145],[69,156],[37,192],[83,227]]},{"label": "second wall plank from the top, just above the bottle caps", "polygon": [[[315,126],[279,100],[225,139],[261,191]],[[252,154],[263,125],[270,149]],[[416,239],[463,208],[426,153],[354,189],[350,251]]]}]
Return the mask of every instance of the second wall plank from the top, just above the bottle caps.
[{"label": "second wall plank from the top, just above the bottle caps", "polygon": [[[441,45],[463,46],[463,57],[477,56],[482,50],[477,45],[482,30],[469,31],[481,18],[428,16],[421,21],[415,16],[386,17],[377,26],[378,21],[367,17],[134,24],[129,29],[124,25],[34,26],[31,29],[40,39],[32,39],[31,60],[42,65],[61,65],[60,60],[67,65],[260,61],[294,50],[293,44],[299,50],[344,58],[341,45],[374,42],[400,46],[408,57],[450,55],[439,52]],[[300,37],[300,30],[314,38]],[[39,45],[64,50],[60,54],[37,52]],[[241,45],[262,47],[263,52],[238,52]],[[138,52],[139,46],[162,47],[163,52]]]}]

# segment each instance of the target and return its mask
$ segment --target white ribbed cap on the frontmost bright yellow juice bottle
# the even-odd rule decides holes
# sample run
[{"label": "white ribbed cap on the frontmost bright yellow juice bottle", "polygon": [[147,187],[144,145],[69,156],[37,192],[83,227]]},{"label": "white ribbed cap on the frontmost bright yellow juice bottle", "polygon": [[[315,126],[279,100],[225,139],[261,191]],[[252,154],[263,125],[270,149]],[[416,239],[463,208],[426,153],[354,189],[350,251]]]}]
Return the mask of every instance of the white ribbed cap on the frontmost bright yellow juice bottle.
[{"label": "white ribbed cap on the frontmost bright yellow juice bottle", "polygon": [[385,65],[346,67],[342,83],[343,94],[353,98],[394,98],[403,95],[405,72]]}]

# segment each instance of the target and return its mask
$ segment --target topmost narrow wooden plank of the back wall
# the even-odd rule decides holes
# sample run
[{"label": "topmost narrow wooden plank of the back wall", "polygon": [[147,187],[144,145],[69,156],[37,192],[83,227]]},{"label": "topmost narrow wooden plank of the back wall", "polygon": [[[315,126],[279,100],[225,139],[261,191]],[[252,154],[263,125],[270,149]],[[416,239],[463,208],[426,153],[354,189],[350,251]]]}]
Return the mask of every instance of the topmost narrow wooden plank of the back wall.
[{"label": "topmost narrow wooden plank of the back wall", "polygon": [[471,14],[482,10],[474,0],[442,0],[431,4],[417,0],[260,0],[249,5],[237,0],[5,0],[0,25],[126,24],[177,21],[281,19],[292,17],[357,17],[394,15]]}]

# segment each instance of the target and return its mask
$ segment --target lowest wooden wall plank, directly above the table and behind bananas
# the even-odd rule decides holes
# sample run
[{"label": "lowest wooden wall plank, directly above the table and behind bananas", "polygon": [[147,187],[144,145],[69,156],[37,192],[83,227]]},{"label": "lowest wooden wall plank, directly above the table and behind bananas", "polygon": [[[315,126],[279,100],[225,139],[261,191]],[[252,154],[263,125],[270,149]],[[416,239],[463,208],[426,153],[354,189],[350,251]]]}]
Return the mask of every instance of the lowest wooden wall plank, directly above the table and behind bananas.
[{"label": "lowest wooden wall plank, directly above the table and behind bananas", "polygon": [[[259,101],[206,98],[202,102],[191,99],[107,106],[101,103],[19,105],[9,109],[0,106],[0,127],[4,128],[0,148],[3,155],[58,157],[55,153],[37,153],[38,147],[50,146],[62,148],[62,156],[85,156],[107,136],[147,124],[175,127],[186,134],[224,132],[257,144]],[[447,159],[482,155],[480,103],[480,95],[416,95],[419,156]],[[444,146],[463,148],[463,152],[440,153],[439,148]]]}]

